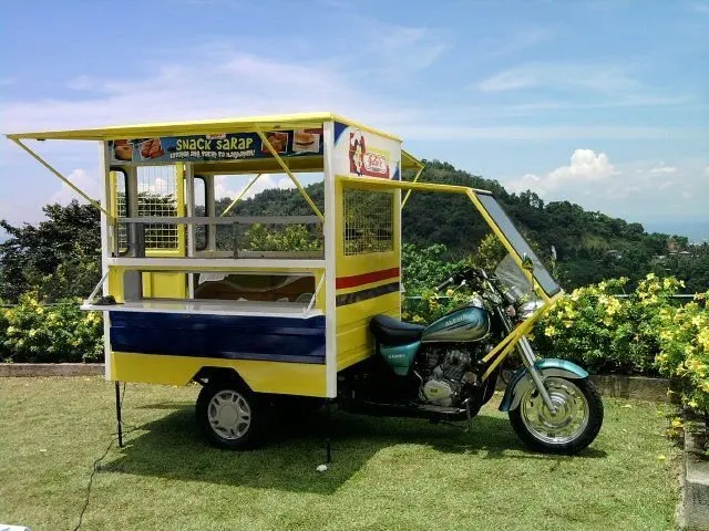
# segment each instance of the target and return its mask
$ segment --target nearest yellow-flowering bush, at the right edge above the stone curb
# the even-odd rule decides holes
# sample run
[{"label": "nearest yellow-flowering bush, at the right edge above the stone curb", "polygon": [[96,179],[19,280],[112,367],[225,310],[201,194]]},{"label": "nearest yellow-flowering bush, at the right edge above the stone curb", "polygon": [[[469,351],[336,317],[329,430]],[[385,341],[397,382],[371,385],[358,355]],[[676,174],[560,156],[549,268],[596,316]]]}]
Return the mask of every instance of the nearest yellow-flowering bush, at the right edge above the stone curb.
[{"label": "nearest yellow-flowering bush, at the right edge above the stone curb", "polygon": [[677,378],[682,403],[709,415],[709,292],[659,313],[660,373]]}]

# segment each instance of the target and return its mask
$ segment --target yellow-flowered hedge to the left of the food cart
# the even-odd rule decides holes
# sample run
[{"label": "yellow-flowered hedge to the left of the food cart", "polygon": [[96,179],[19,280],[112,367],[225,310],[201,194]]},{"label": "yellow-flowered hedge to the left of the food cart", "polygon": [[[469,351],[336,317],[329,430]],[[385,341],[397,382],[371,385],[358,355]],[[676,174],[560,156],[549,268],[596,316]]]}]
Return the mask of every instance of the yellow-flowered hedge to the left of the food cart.
[{"label": "yellow-flowered hedge to the left of the food cart", "polygon": [[79,301],[44,305],[34,292],[18,305],[0,309],[0,345],[4,362],[60,363],[103,360],[103,324],[97,312],[83,312]]}]

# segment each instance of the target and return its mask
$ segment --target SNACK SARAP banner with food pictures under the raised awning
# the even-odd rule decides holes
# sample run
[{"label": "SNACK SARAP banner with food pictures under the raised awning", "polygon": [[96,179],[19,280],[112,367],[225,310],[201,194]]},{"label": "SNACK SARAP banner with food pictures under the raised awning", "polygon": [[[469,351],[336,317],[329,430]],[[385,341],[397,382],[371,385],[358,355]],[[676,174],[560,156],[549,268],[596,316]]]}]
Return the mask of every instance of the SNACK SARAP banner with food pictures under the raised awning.
[{"label": "SNACK SARAP banner with food pictures under the raised awning", "polygon": [[[322,155],[322,129],[269,131],[264,135],[281,157]],[[110,140],[109,149],[114,164],[206,163],[273,157],[256,133]]]}]

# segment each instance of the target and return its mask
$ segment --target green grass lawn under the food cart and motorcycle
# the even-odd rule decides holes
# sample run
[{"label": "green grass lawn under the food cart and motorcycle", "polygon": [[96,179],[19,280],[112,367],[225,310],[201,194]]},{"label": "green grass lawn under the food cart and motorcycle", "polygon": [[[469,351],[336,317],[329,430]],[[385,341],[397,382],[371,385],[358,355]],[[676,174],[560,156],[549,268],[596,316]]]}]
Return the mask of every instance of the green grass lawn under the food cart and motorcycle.
[{"label": "green grass lawn under the food cart and motorcycle", "polygon": [[[337,412],[320,473],[321,414],[281,423],[267,448],[222,451],[197,434],[197,392],[129,384],[124,421],[138,429],[95,475],[82,529],[675,528],[666,406],[606,399],[600,435],[573,458],[525,451],[492,405],[472,433]],[[115,431],[113,397],[99,377],[0,378],[0,522],[74,528]]]}]

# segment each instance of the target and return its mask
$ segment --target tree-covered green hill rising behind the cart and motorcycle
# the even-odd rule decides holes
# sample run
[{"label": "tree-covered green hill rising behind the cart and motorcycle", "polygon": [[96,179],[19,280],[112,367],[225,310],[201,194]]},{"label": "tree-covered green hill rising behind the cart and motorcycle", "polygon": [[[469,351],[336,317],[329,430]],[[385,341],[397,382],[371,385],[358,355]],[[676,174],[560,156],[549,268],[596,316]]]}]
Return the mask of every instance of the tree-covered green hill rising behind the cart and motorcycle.
[{"label": "tree-covered green hill rising behind the cart and motorcycle", "polygon": [[[689,253],[686,236],[648,233],[640,223],[587,211],[569,201],[545,204],[531,191],[510,194],[496,180],[471,175],[448,163],[427,162],[420,180],[472,186],[493,191],[544,260],[549,260],[554,246],[557,254],[557,275],[566,288],[620,275],[638,280],[654,269],[667,273],[668,269],[677,269],[671,260],[668,261],[667,257],[671,258],[670,251],[674,256],[682,251],[685,254]],[[322,185],[310,185],[307,190],[314,201],[322,206]],[[220,202],[226,206],[228,200],[224,199]],[[310,212],[308,205],[294,189],[266,190],[240,202],[233,211],[234,215]],[[451,258],[474,252],[487,230],[487,226],[472,208],[470,200],[463,196],[414,192],[403,210],[404,241],[422,247],[444,243]],[[685,268],[685,273],[692,277],[688,279],[690,291],[709,289],[709,279],[705,278],[709,272],[701,273],[701,268],[709,271],[709,252],[702,257],[701,260],[708,260],[706,268],[701,260],[695,260],[689,269]]]}]

